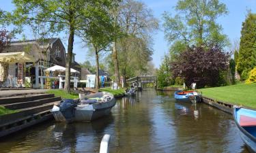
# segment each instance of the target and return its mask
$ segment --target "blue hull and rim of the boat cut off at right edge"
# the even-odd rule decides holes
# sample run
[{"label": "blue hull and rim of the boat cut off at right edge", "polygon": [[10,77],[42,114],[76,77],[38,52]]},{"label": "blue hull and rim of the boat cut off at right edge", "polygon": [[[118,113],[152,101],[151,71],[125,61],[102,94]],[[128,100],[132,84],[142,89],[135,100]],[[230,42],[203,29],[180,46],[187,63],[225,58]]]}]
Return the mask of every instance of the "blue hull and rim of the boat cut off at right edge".
[{"label": "blue hull and rim of the boat cut off at right edge", "polygon": [[[256,152],[256,137],[255,134],[250,133],[251,131],[255,131],[256,126],[240,126],[240,115],[243,113],[239,113],[240,109],[243,108],[234,108],[233,109],[233,118],[236,122],[236,126],[238,127],[240,136],[242,138],[242,140],[244,141],[244,143],[246,144],[246,147],[248,148],[248,150],[250,152]],[[252,112],[253,110],[248,109],[250,112]],[[246,109],[243,109],[242,111],[244,111],[245,114],[250,114],[250,112],[246,113]],[[255,112],[255,118],[256,118],[256,111]]]}]

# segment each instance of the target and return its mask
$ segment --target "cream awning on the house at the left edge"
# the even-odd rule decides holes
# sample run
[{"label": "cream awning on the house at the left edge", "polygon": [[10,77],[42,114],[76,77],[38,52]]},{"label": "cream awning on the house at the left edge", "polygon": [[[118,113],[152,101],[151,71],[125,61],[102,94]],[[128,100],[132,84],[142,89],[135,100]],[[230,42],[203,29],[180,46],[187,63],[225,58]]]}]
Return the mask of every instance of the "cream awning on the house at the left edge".
[{"label": "cream awning on the house at the left edge", "polygon": [[35,62],[33,56],[27,54],[26,52],[7,52],[0,53],[1,63],[29,63]]}]

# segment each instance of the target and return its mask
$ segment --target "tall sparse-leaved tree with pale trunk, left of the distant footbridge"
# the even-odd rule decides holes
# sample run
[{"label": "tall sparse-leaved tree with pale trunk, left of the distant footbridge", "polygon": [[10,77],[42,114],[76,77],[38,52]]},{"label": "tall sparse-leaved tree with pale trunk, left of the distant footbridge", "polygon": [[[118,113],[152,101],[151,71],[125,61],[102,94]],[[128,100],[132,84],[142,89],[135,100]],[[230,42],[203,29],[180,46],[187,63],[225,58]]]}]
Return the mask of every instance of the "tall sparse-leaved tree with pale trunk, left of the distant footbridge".
[{"label": "tall sparse-leaved tree with pale trunk, left of the distant footbridge", "polygon": [[123,71],[119,72],[119,55],[117,54],[120,52],[120,41],[130,41],[127,38],[130,35],[142,38],[142,33],[147,35],[153,29],[158,28],[158,21],[152,15],[152,10],[148,9],[144,3],[134,0],[120,2],[118,7],[112,10],[112,14],[115,21],[113,22],[114,27],[117,29],[113,41],[113,65],[115,67],[115,82],[119,82],[119,73]]}]

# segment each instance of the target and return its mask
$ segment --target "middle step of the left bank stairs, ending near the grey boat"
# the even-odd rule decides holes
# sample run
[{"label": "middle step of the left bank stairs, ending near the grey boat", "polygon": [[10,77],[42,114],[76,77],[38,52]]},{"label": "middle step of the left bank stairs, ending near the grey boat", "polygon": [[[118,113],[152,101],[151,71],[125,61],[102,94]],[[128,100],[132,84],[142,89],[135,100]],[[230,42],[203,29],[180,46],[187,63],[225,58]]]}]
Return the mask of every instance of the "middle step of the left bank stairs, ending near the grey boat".
[{"label": "middle step of the left bank stairs, ending near the grey boat", "polygon": [[61,97],[51,97],[51,98],[38,99],[35,101],[26,101],[26,102],[21,102],[21,103],[10,103],[10,104],[6,104],[3,106],[8,109],[23,109],[23,108],[27,108],[27,107],[34,107],[34,106],[42,105],[44,103],[51,103],[53,101],[61,101]]}]

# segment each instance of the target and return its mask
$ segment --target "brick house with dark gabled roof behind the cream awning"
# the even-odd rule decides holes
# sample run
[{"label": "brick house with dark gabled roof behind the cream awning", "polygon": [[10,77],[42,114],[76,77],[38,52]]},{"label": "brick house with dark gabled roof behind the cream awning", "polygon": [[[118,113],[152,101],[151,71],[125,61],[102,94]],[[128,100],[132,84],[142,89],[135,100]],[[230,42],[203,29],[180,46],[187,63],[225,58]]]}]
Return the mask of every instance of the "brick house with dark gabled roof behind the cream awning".
[{"label": "brick house with dark gabled roof behind the cream awning", "polygon": [[[10,47],[3,50],[2,53],[9,52],[26,52],[35,60],[35,63],[9,63],[8,76],[15,78],[14,80],[17,78],[21,80],[18,82],[19,86],[25,84],[25,77],[30,77],[31,82],[35,84],[33,87],[38,88],[38,77],[46,75],[44,69],[54,65],[66,67],[66,49],[59,38],[11,41]],[[81,71],[81,69],[77,69],[79,64],[73,58],[72,60],[72,68]],[[4,84],[5,81],[0,82],[0,85]]]}]

